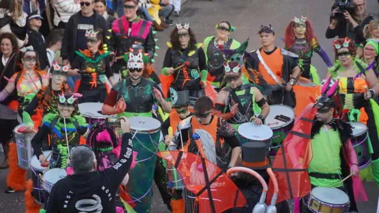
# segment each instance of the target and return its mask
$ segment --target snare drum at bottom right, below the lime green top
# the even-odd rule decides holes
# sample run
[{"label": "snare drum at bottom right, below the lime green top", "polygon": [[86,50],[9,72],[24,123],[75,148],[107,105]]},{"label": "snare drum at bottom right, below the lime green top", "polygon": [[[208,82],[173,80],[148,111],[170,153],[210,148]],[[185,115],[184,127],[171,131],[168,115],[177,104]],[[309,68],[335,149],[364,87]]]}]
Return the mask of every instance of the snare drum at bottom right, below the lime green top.
[{"label": "snare drum at bottom right, below the lime green top", "polygon": [[314,187],[309,194],[308,208],[313,213],[348,213],[349,196],[337,188]]}]

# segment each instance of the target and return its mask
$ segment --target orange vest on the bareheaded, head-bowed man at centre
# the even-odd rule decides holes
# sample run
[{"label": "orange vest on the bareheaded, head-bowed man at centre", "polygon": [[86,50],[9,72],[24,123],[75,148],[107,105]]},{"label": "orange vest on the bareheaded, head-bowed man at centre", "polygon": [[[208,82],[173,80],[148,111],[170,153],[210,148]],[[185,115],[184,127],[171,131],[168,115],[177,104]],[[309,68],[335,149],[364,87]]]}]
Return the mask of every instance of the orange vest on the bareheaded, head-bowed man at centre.
[{"label": "orange vest on the bareheaded, head-bowed man at centre", "polygon": [[[191,119],[192,133],[194,133],[196,129],[207,131],[213,138],[213,142],[215,143],[216,150],[217,150],[217,140],[220,141],[221,147],[223,146],[225,142],[223,138],[217,137],[217,130],[221,126],[221,119],[220,119],[220,123],[218,123],[218,120],[219,120],[218,117],[214,116],[212,122],[208,126],[206,126],[197,122],[196,119]],[[192,138],[192,137],[189,136],[189,138]],[[200,140],[195,140],[195,142],[196,142],[197,148],[199,149],[200,155],[203,158],[207,158],[204,154],[204,150],[203,150],[202,144],[200,143]],[[187,143],[189,144],[189,142]]]}]

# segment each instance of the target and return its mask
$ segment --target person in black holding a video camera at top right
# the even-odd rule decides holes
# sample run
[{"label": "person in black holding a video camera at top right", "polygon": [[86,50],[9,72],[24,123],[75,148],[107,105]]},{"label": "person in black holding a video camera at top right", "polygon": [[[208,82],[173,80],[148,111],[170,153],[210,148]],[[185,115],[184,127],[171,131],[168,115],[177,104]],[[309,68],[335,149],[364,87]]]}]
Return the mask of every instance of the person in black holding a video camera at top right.
[{"label": "person in black holding a video camera at top right", "polygon": [[360,44],[366,40],[363,28],[374,18],[366,11],[366,0],[336,0],[332,6],[330,25],[326,30],[326,38],[348,37]]}]

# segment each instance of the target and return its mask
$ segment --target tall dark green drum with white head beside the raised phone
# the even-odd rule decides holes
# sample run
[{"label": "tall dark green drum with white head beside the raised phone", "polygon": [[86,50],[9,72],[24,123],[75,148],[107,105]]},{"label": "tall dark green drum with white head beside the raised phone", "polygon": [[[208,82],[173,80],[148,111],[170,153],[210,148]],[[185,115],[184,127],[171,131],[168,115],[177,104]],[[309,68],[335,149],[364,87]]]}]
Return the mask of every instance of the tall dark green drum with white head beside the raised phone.
[{"label": "tall dark green drum with white head beside the raised phone", "polygon": [[152,180],[157,159],[160,138],[160,122],[151,117],[130,117],[130,132],[133,138],[133,150],[138,152],[136,166],[129,170],[129,182],[125,192],[140,199],[134,211],[151,212]]}]

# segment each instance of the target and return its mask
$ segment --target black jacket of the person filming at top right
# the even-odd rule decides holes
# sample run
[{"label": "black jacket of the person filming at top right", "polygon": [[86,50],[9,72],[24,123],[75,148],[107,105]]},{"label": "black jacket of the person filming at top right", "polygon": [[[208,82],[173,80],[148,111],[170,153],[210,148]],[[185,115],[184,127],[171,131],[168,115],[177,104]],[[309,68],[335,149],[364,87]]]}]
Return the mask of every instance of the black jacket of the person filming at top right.
[{"label": "black jacket of the person filming at top right", "polygon": [[[332,16],[330,16],[330,23],[332,23]],[[337,23],[337,26],[334,30],[330,29],[328,26],[328,29],[326,29],[325,37],[326,38],[334,38],[338,36],[339,38],[348,37],[356,44],[361,44],[363,41],[366,40],[366,38],[363,36],[363,28],[369,24],[372,20],[374,20],[374,17],[372,15],[367,16],[361,24],[359,24],[357,27],[354,28],[354,30],[347,29],[347,24],[345,22],[339,21]]]}]

